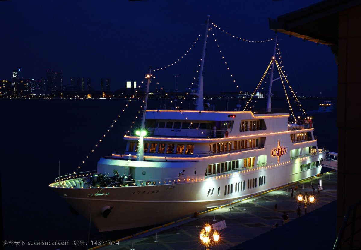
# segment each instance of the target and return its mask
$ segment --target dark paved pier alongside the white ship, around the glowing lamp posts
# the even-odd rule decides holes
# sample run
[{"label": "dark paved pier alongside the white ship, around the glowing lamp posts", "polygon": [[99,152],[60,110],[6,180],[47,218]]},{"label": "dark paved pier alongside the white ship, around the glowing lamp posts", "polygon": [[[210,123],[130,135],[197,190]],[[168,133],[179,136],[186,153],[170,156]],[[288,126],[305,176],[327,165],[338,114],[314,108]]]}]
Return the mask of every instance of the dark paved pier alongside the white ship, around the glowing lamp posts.
[{"label": "dark paved pier alongside the white ship, around the glowing lamp posts", "polygon": [[[318,180],[322,179],[320,195],[317,194]],[[297,218],[297,194],[312,193],[316,189],[315,201],[307,205],[305,215],[302,205],[301,216]],[[291,198],[291,187],[297,187]],[[328,172],[292,186],[280,187],[262,195],[247,197],[242,201],[221,206],[218,209],[200,213],[196,218],[171,222],[134,235],[120,238],[114,245],[89,246],[91,250],[200,250],[206,249],[199,233],[205,223],[225,220],[227,228],[220,231],[220,240],[210,250],[226,249],[332,249],[336,240],[336,197],[337,174]],[[275,205],[277,204],[277,210]],[[289,216],[282,224],[282,215]],[[272,226],[279,223],[279,227]],[[113,240],[114,236],[113,236]],[[92,248],[91,248],[92,247]]]}]

